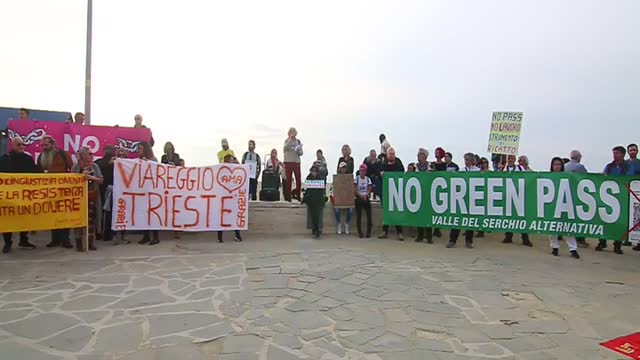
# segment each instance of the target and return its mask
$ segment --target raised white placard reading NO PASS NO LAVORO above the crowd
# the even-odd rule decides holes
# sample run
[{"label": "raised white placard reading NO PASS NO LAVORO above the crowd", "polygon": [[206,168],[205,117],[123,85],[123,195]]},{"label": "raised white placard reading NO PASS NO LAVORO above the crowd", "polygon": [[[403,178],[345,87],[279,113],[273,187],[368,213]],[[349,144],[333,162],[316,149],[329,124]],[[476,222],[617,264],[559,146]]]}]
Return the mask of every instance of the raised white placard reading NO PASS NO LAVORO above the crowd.
[{"label": "raised white placard reading NO PASS NO LAVORO above the crowd", "polygon": [[492,154],[517,155],[522,128],[521,112],[494,112],[487,151]]}]

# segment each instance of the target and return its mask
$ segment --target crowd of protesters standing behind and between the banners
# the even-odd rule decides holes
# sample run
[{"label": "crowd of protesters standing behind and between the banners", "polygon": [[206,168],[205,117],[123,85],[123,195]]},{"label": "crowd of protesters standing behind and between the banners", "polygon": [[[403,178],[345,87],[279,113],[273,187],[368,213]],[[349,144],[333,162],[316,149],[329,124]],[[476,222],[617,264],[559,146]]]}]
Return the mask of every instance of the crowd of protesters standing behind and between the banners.
[{"label": "crowd of protesters standing behind and between the banners", "polygon": [[[20,109],[19,119],[28,120],[29,111]],[[77,125],[83,125],[85,122],[84,114],[76,113],[73,118],[69,119]],[[142,116],[135,115],[134,127],[145,127],[142,124]],[[395,149],[384,134],[379,136],[380,153],[375,149],[369,152],[361,164],[357,166],[351,154],[351,147],[347,144],[342,146],[342,156],[338,159],[336,168],[337,174],[355,174],[353,194],[353,208],[335,209],[335,218],[337,230],[336,233],[341,235],[344,233],[349,235],[351,231],[352,211],[355,208],[357,219],[357,233],[361,238],[371,237],[373,224],[371,223],[371,202],[379,201],[382,198],[382,178],[385,173],[391,172],[437,172],[437,171],[471,171],[471,172],[519,172],[532,171],[529,167],[529,159],[527,156],[519,157],[510,156],[492,156],[491,161],[485,157],[480,157],[473,153],[466,153],[463,156],[464,166],[460,167],[453,159],[452,153],[438,147],[434,150],[435,160],[429,161],[429,151],[425,148],[419,148],[416,155],[416,161],[407,164],[406,168],[402,160],[396,155]],[[147,161],[158,161],[153,152],[153,137],[150,142],[142,142],[138,146],[139,158]],[[90,149],[83,147],[77,151],[77,162],[74,164],[69,153],[57,147],[55,139],[51,136],[44,136],[41,140],[41,154],[34,159],[24,152],[24,142],[21,138],[16,137],[11,140],[11,151],[0,157],[0,172],[5,173],[78,173],[84,174],[88,183],[88,212],[89,224],[87,228],[81,229],[57,229],[51,231],[51,241],[47,247],[63,247],[73,248],[71,243],[71,233],[75,235],[75,247],[79,251],[84,251],[82,239],[88,238],[88,250],[96,250],[95,240],[102,239],[105,241],[113,241],[114,244],[126,244],[129,241],[126,233],[120,231],[115,233],[110,229],[112,216],[112,199],[113,193],[113,170],[116,158],[126,158],[127,153],[123,149],[116,146],[106,146],[104,156],[94,162],[93,154]],[[249,195],[252,200],[257,200],[258,180],[263,169],[263,162],[256,153],[256,143],[249,140],[247,151],[242,155],[241,161],[238,161],[234,151],[229,147],[227,139],[221,140],[221,150],[217,154],[219,163],[242,163],[250,165],[252,168],[252,176],[249,182]],[[326,191],[322,189],[302,190],[301,179],[301,158],[304,155],[303,144],[298,139],[298,132],[295,128],[290,128],[287,132],[287,138],[283,144],[283,161],[278,159],[277,149],[272,149],[267,159],[264,159],[265,171],[270,171],[279,179],[282,179],[284,186],[284,199],[291,202],[297,200],[305,203],[309,208],[310,222],[314,237],[320,237],[322,224],[321,214],[322,208],[326,201],[330,198],[326,197]],[[630,144],[626,148],[616,146],[613,148],[613,161],[606,164],[603,173],[608,176],[620,175],[640,175],[640,161],[637,159],[638,147],[636,144]],[[625,158],[628,154],[628,158]],[[503,161],[504,160],[504,161]],[[569,158],[554,157],[551,160],[549,171],[551,172],[582,172],[586,173],[587,169],[581,164],[582,154],[578,150],[573,150],[569,154]],[[167,142],[163,148],[163,155],[160,158],[163,164],[184,166],[184,160],[176,152],[174,145]],[[327,169],[327,161],[322,150],[316,151],[316,159],[309,170],[306,180],[323,180],[326,183],[329,171]],[[362,212],[366,214],[366,227],[362,228]],[[343,225],[344,215],[344,227]],[[403,229],[401,226],[395,226],[396,236],[398,240],[404,240]],[[475,233],[470,229],[452,229],[449,231],[449,239],[447,248],[457,246],[460,235],[464,232],[465,246],[473,247],[475,238],[484,237],[483,232]],[[114,240],[115,236],[115,240]],[[378,236],[385,239],[389,236],[389,226],[383,225],[382,233]],[[442,231],[438,228],[420,227],[417,229],[416,242],[433,243],[434,237],[442,237]],[[522,244],[531,247],[533,244],[529,239],[529,235],[523,233],[520,235]],[[4,233],[3,252],[11,251],[13,244],[12,234]],[[174,237],[180,237],[179,232],[174,232]],[[513,243],[514,234],[512,232],[505,233],[503,243]],[[239,231],[234,232],[234,240],[242,241]],[[558,256],[559,240],[565,240],[568,244],[571,256],[579,258],[578,247],[587,247],[588,243],[584,238],[574,238],[571,236],[550,236],[550,245],[552,254]],[[142,232],[142,238],[139,244],[155,245],[160,242],[160,234],[157,230],[147,230]],[[223,242],[223,233],[218,232],[218,242]],[[614,241],[613,247],[616,254],[622,254],[622,242]],[[35,245],[29,242],[29,234],[21,232],[19,234],[20,248],[34,249]],[[607,248],[605,239],[600,239],[596,246],[596,251],[602,251]],[[633,250],[640,251],[640,244],[633,247]]]}]

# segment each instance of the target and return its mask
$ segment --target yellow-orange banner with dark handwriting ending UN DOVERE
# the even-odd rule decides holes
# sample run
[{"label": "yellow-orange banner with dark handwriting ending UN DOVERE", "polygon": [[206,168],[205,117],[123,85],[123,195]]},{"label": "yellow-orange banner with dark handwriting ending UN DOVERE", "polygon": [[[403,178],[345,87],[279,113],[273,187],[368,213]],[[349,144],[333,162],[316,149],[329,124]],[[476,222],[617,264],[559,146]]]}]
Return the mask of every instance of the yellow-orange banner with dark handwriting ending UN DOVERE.
[{"label": "yellow-orange banner with dark handwriting ending UN DOVERE", "polygon": [[0,173],[0,232],[87,226],[87,181],[75,174]]}]

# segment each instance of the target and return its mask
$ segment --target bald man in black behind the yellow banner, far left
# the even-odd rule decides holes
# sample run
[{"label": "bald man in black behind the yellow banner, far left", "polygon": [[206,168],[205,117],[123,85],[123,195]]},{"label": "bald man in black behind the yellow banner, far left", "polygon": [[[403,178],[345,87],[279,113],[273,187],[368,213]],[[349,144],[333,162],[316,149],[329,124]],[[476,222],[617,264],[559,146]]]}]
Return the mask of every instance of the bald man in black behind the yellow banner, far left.
[{"label": "bald man in black behind the yellow banner, far left", "polygon": [[[11,140],[11,152],[0,157],[0,173],[21,174],[36,172],[38,172],[38,168],[33,158],[24,152],[24,142],[22,138],[19,136],[14,137]],[[29,242],[27,234],[26,231],[20,232],[20,242],[18,246],[23,249],[35,249],[36,246]],[[13,241],[11,240],[12,235],[12,233],[2,234],[4,237],[2,252],[5,254],[11,251],[11,245],[13,245]]]}]

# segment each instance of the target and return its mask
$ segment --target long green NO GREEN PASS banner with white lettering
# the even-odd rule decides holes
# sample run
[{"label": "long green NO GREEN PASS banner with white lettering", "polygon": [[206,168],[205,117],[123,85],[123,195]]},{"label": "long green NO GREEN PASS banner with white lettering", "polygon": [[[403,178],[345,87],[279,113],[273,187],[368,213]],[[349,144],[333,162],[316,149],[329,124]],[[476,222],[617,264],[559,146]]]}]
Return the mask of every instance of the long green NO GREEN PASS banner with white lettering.
[{"label": "long green NO GREEN PASS banner with white lettering", "polygon": [[[549,172],[385,173],[383,223],[627,239],[640,179]],[[636,195],[637,196],[637,195]],[[634,231],[633,233],[636,233]]]}]

